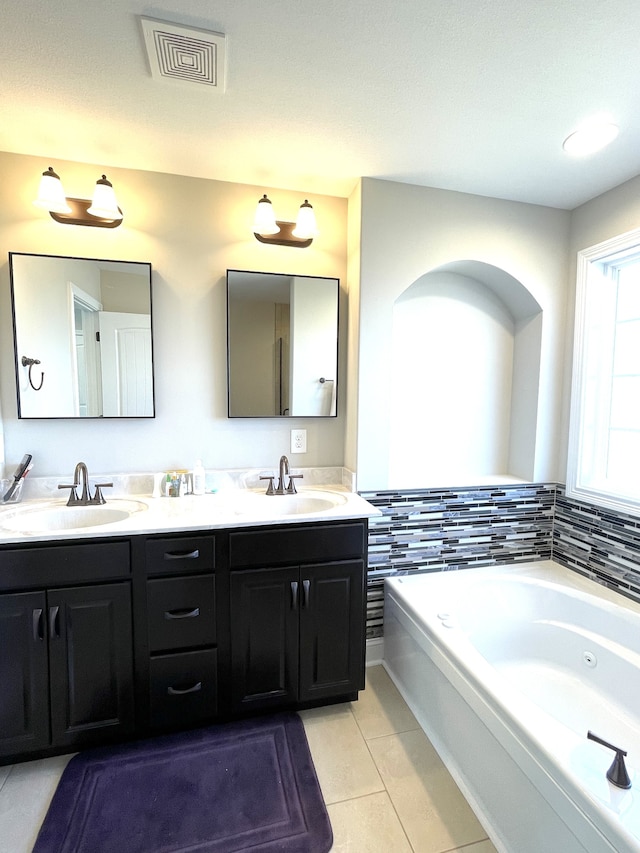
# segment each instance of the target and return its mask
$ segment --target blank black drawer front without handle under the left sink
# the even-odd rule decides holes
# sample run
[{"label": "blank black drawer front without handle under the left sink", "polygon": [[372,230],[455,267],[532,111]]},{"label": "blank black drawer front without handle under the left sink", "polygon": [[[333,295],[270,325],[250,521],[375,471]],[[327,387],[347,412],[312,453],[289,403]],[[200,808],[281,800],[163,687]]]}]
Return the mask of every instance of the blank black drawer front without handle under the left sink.
[{"label": "blank black drawer front without handle under the left sink", "polygon": [[127,578],[129,542],[0,549],[0,589],[31,589]]}]

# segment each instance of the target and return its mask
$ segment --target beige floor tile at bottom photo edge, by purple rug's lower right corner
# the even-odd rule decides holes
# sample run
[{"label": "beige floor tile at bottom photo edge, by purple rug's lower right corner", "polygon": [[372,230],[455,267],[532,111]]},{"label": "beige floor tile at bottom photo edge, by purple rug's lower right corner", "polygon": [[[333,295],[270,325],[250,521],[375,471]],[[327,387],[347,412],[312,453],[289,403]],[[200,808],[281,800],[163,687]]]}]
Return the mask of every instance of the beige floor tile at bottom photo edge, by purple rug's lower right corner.
[{"label": "beige floor tile at bottom photo edge, by purple rug's lower right corner", "polygon": [[333,829],[331,853],[411,853],[386,793],[327,807]]}]

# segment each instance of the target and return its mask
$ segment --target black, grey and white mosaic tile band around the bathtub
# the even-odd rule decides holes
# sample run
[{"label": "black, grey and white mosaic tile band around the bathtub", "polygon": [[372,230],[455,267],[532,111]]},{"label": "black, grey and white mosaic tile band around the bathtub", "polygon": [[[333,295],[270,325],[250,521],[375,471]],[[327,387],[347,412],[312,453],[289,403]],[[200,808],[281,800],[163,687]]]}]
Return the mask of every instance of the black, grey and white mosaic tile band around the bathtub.
[{"label": "black, grey and white mosaic tile band around the bathtub", "polygon": [[393,575],[555,559],[640,601],[640,519],[566,497],[556,483],[362,492],[369,519],[367,637],[382,636]]}]

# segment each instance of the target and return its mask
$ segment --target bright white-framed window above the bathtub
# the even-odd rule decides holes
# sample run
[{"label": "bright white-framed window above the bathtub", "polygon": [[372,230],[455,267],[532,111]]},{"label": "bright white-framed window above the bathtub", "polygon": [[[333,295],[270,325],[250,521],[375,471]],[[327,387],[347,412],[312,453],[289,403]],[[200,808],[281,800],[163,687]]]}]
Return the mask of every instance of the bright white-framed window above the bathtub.
[{"label": "bright white-framed window above the bathtub", "polygon": [[578,254],[567,491],[640,514],[640,231]]}]

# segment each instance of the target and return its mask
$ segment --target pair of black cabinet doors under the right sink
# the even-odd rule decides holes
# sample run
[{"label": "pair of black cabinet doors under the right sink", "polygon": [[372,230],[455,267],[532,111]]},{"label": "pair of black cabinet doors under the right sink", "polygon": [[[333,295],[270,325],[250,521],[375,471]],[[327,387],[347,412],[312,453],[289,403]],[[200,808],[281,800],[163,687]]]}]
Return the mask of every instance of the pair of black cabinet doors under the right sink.
[{"label": "pair of black cabinet doors under the right sink", "polygon": [[362,578],[361,561],[231,573],[234,712],[355,698]]}]

